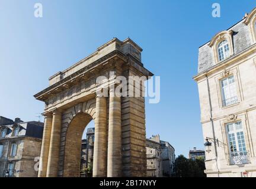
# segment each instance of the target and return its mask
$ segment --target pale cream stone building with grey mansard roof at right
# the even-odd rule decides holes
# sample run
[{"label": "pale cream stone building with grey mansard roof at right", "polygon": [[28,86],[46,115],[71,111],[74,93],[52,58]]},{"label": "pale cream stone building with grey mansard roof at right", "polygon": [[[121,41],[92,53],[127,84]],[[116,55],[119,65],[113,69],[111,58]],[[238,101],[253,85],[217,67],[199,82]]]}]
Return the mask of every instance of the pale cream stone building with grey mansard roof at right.
[{"label": "pale cream stone building with grey mansard roof at right", "polygon": [[207,177],[256,177],[256,8],[199,48]]}]

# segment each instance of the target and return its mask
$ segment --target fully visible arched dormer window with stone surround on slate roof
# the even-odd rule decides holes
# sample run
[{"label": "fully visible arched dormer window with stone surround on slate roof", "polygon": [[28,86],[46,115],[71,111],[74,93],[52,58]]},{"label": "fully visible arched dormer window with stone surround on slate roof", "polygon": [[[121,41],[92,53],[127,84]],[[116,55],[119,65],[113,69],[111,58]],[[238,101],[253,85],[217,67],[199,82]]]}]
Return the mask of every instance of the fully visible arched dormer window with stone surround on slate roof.
[{"label": "fully visible arched dormer window with stone surround on slate roof", "polygon": [[233,55],[232,35],[232,30],[219,32],[208,44],[213,49],[216,64]]}]

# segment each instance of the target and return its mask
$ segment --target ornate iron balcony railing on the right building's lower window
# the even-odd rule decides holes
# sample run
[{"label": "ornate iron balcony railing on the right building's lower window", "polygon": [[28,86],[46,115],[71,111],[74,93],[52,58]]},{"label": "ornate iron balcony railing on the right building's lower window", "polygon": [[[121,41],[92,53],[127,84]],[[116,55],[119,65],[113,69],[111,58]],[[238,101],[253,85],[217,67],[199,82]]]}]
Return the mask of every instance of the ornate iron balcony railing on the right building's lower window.
[{"label": "ornate iron balcony railing on the right building's lower window", "polygon": [[231,165],[250,164],[249,151],[231,152],[229,156]]}]

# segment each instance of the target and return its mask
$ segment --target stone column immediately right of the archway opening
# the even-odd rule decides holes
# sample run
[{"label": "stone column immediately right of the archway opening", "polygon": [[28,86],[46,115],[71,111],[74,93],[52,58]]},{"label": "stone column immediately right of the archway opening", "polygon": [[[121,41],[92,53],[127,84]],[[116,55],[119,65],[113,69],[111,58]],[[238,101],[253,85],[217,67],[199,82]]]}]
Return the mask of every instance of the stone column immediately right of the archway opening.
[{"label": "stone column immediately right of the archway opening", "polygon": [[[107,176],[107,100],[96,97],[93,177]],[[89,158],[89,156],[88,156]]]}]

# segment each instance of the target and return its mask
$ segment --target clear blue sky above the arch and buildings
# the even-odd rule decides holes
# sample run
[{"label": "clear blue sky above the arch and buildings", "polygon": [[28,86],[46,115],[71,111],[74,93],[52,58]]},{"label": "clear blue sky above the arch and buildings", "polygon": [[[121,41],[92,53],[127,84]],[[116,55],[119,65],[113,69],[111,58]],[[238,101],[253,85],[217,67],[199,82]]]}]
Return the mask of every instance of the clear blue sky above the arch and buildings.
[{"label": "clear blue sky above the arch and buildings", "polygon": [[[34,4],[43,4],[43,18]],[[219,2],[221,18],[212,17]],[[255,1],[0,0],[0,115],[36,120],[33,95],[48,78],[113,37],[132,38],[142,61],[161,76],[161,102],[146,104],[147,137],[161,135],[176,155],[203,148],[197,85],[198,47],[251,11]]]}]

